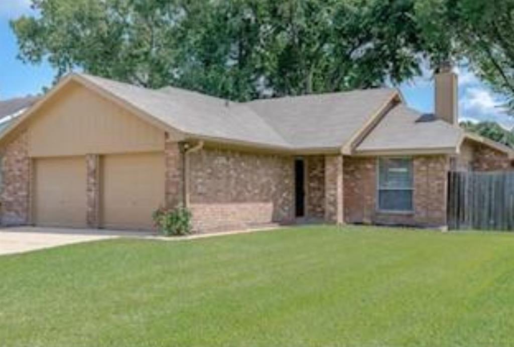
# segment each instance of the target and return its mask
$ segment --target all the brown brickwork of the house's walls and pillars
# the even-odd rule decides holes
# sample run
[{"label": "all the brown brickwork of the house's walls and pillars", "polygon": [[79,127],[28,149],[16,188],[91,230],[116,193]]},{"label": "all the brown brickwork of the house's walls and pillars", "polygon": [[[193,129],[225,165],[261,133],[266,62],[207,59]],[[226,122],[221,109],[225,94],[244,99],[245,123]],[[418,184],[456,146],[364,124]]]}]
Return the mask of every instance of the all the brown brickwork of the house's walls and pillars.
[{"label": "all the brown brickwork of the house's walls and pillars", "polygon": [[[454,158],[455,165],[478,171],[512,169],[506,155],[480,144]],[[166,205],[183,201],[184,158],[180,144],[164,148]],[[28,134],[20,133],[2,150],[2,222],[30,223],[31,160]],[[244,228],[295,220],[294,156],[205,148],[190,154],[189,192],[196,230]],[[416,226],[446,224],[446,155],[415,156],[412,214],[377,211],[377,158],[304,156],[306,217],[340,223]],[[99,158],[87,155],[87,224],[99,224]]]}]

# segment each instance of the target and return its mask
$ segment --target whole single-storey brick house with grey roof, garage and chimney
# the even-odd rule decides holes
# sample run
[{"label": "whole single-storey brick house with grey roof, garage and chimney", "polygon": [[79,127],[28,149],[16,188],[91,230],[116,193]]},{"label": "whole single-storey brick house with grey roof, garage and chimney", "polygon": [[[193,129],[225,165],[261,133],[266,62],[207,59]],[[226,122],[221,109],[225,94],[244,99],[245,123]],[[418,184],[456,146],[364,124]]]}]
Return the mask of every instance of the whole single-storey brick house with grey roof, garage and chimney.
[{"label": "whole single-storey brick house with grey roof, garage and chimney", "polygon": [[446,226],[449,170],[512,169],[457,126],[457,76],[435,115],[396,89],[235,103],[71,74],[0,135],[5,224],[152,228],[182,203],[194,228],[270,222]]}]

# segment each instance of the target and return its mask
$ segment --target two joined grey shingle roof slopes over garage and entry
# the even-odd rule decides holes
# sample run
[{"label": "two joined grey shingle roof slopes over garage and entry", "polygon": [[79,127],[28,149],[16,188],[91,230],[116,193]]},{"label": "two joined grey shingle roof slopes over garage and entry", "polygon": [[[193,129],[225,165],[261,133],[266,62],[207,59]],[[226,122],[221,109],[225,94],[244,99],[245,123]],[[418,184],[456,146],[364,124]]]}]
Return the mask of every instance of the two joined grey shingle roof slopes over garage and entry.
[{"label": "two joined grey shingle roof slopes over garage and entry", "polygon": [[173,87],[150,90],[81,76],[188,135],[285,149],[339,148],[397,93],[370,89],[234,103]]}]

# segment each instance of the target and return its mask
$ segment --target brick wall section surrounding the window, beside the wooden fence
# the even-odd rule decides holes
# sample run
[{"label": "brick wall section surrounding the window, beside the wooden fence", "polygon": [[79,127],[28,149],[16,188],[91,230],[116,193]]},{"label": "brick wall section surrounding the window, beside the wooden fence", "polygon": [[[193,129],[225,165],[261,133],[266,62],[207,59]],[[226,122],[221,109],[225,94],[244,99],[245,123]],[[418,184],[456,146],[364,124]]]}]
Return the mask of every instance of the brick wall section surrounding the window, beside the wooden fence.
[{"label": "brick wall section surrounding the window, beside the wooden fence", "polygon": [[344,209],[349,223],[446,226],[449,157],[416,156],[414,170],[414,213],[389,214],[377,211],[377,158],[344,158]]}]

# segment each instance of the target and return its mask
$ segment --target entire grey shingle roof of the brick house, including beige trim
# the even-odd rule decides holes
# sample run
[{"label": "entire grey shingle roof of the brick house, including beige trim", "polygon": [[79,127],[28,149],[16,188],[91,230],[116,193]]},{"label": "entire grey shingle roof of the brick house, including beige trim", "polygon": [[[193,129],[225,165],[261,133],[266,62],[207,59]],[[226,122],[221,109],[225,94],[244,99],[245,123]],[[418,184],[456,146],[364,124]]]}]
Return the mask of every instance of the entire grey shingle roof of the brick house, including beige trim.
[{"label": "entire grey shingle roof of the brick house, including beige trim", "polygon": [[235,103],[179,88],[145,89],[87,74],[68,75],[0,132],[0,140],[70,81],[100,92],[179,139],[221,141],[298,153],[393,154],[457,153],[462,141],[469,138],[514,157],[514,151],[505,146],[409,109],[396,89]]}]

